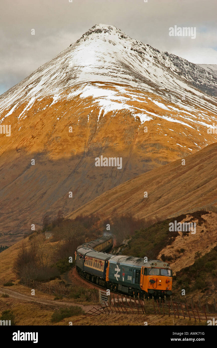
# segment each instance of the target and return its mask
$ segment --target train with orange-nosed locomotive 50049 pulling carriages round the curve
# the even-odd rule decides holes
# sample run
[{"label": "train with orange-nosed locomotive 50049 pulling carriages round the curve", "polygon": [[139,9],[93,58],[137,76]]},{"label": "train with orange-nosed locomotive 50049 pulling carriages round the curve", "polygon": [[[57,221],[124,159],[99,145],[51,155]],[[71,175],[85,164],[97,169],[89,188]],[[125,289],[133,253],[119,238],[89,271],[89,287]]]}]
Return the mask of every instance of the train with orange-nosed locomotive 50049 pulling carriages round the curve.
[{"label": "train with orange-nosed locomotive 50049 pulling carriages round the curve", "polygon": [[[106,240],[101,241],[102,238]],[[102,238],[97,241],[102,244],[109,241],[107,249],[94,250],[90,245],[100,248],[95,240],[77,248],[76,269],[82,277],[128,295],[147,298],[172,294],[172,269],[167,262],[105,253],[103,251],[109,249],[113,239],[111,236]]]}]

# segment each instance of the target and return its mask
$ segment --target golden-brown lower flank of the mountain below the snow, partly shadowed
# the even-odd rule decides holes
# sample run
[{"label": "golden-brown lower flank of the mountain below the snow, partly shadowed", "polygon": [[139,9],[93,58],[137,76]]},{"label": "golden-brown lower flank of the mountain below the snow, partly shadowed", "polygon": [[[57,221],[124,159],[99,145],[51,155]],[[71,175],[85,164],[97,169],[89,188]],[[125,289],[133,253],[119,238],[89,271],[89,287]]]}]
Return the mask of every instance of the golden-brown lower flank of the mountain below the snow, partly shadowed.
[{"label": "golden-brown lower flank of the mountain below the snow, partly shadowed", "polygon": [[[136,108],[138,114],[125,109],[102,110],[91,96],[67,98],[77,88],[85,93],[99,85],[101,93],[115,92],[120,100],[128,98],[128,107]],[[55,103],[47,96],[24,111],[28,105],[24,102],[7,116],[11,136],[1,134],[0,147],[1,244],[19,240],[32,223],[40,228],[45,212],[55,215],[62,209],[65,215],[70,214],[117,185],[216,141],[217,135],[207,134],[206,126],[199,123],[195,127],[194,119],[185,120],[185,111],[176,111],[175,103],[150,92],[126,86],[124,90],[117,84],[92,82],[66,90]],[[165,110],[164,104],[170,110]],[[205,104],[194,108],[199,119],[204,112],[215,118]],[[8,112],[2,112],[1,117]],[[138,115],[145,112],[156,116],[141,124]],[[95,158],[100,155],[122,157],[122,169],[96,167]],[[35,165],[31,165],[32,159]],[[138,198],[142,199],[142,191]],[[132,196],[126,193],[125,204],[129,199]]]}]

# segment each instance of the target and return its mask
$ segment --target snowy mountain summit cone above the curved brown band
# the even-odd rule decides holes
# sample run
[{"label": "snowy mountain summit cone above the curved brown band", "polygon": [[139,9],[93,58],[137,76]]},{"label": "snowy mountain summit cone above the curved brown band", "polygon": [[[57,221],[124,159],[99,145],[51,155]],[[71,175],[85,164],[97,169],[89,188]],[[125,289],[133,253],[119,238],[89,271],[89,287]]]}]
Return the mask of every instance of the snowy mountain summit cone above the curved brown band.
[{"label": "snowy mountain summit cone above the curved brown band", "polygon": [[[21,103],[28,102],[29,108],[36,100],[47,96],[57,101],[67,89],[94,81],[128,85],[160,97],[166,96],[168,101],[173,96],[181,102],[185,95],[187,103],[190,101],[191,104],[195,98],[196,104],[200,104],[200,97],[204,97],[202,92],[217,95],[217,78],[212,70],[207,71],[183,58],[160,52],[131,39],[113,25],[100,23],[2,94],[0,112],[5,111],[7,117]],[[68,93],[68,97],[73,97],[73,93]]]}]

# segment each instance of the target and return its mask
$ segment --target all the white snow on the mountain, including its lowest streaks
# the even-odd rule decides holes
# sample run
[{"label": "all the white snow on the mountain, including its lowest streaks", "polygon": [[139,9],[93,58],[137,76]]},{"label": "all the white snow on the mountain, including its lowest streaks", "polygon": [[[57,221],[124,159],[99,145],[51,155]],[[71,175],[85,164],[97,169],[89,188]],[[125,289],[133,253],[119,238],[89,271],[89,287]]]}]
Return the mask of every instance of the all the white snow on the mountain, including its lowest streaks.
[{"label": "all the white snow on the mountain, including its lowest streaks", "polygon": [[[148,44],[131,39],[115,26],[98,24],[0,97],[0,111],[4,113],[1,122],[24,101],[26,105],[18,120],[25,118],[33,104],[45,96],[53,96],[53,102],[48,106],[65,97],[90,96],[104,111],[129,109],[138,114],[141,122],[156,116],[147,112],[143,95],[129,92],[127,87],[131,87],[154,93],[156,100],[152,100],[153,103],[168,114],[171,110],[177,111],[180,118],[187,114],[192,123],[195,120],[191,113],[197,113],[200,106],[216,112],[209,98],[204,96],[204,93],[217,96],[217,77],[213,71],[167,52],[161,53]],[[68,92],[69,88],[90,81],[118,84],[119,87],[105,91],[101,84],[81,85]],[[165,105],[159,103],[157,97],[164,98]],[[132,107],[134,100],[141,102],[140,110]],[[169,105],[171,102],[176,103],[177,110]],[[196,121],[208,125],[213,119],[202,112],[197,114]]]}]

